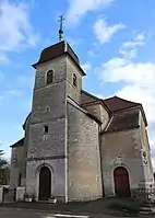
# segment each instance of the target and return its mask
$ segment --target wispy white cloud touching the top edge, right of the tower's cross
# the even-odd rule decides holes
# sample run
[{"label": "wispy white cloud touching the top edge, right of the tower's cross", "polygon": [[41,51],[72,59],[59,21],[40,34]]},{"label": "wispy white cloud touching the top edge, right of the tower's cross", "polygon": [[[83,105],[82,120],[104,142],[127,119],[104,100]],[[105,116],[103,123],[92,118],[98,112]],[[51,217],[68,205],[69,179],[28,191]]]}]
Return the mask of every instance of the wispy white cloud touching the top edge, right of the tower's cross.
[{"label": "wispy white cloud touching the top edge, right of the tower's cross", "polygon": [[74,25],[90,11],[110,5],[115,0],[68,0],[67,24]]}]

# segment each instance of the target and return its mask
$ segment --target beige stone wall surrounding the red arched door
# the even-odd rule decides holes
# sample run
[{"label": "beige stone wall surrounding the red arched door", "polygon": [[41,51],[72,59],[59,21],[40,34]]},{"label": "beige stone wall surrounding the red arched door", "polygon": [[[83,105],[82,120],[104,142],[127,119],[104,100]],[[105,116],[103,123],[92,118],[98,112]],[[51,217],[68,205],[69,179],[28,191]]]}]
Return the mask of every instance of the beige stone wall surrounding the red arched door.
[{"label": "beige stone wall surrounding the red arched door", "polygon": [[115,195],[114,170],[117,167],[128,170],[131,190],[144,184],[140,128],[104,134],[100,150],[105,195]]}]

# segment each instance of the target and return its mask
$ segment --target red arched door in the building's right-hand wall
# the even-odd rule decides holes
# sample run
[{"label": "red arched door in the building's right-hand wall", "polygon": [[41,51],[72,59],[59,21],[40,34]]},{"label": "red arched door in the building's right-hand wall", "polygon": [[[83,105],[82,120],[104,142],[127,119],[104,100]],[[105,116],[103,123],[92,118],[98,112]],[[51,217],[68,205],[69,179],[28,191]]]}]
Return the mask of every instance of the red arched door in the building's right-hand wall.
[{"label": "red arched door in the building's right-hand wall", "polygon": [[129,174],[126,168],[119,167],[114,171],[115,193],[118,197],[130,197]]}]

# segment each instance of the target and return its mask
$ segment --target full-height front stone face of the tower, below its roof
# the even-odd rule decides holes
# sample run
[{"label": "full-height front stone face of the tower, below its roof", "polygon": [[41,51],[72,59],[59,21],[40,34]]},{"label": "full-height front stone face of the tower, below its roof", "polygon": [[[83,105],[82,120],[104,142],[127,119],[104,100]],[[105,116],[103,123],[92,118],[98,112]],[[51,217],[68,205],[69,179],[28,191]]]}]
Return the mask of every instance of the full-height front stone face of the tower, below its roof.
[{"label": "full-height front stone face of the tower, below its roof", "polygon": [[[65,56],[62,56],[36,70],[26,165],[26,194],[33,194],[36,199],[39,171],[47,165],[52,174],[51,195],[65,200]],[[46,84],[49,69],[53,70],[53,82]],[[45,126],[48,126],[48,133],[45,133]]]}]

